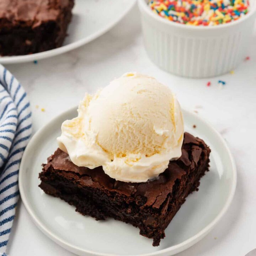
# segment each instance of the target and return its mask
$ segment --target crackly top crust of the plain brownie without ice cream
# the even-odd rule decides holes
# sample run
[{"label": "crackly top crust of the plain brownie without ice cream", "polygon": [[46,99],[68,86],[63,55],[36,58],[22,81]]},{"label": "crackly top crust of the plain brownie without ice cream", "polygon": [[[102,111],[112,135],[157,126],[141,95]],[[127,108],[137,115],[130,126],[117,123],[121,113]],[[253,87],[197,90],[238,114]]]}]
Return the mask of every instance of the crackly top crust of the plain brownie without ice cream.
[{"label": "crackly top crust of the plain brownie without ice cream", "polygon": [[[73,0],[0,0],[1,24],[36,27],[43,21],[55,20],[60,10],[73,7]],[[22,24],[21,24],[22,23]]]}]

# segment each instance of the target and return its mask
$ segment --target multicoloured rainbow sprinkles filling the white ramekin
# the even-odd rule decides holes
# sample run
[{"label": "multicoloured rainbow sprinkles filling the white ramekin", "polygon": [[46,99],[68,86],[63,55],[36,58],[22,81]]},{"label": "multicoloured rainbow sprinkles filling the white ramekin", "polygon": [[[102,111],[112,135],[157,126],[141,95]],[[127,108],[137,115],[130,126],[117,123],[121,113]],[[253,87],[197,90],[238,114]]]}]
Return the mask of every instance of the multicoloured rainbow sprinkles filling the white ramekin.
[{"label": "multicoloured rainbow sprinkles filling the white ramekin", "polygon": [[153,12],[167,20],[193,26],[233,22],[249,11],[249,0],[157,0],[149,1]]}]

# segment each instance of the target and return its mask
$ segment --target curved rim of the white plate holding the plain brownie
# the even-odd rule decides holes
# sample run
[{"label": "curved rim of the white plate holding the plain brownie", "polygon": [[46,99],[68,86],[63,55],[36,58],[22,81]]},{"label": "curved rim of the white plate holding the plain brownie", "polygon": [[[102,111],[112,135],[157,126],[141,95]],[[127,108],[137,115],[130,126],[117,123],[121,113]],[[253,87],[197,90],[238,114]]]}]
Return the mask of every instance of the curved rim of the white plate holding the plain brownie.
[{"label": "curved rim of the white plate holding the plain brownie", "polygon": [[71,50],[74,50],[76,48],[83,46],[84,44],[90,43],[94,39],[102,36],[107,31],[111,30],[112,27],[114,27],[119,21],[121,21],[122,18],[126,16],[128,12],[132,9],[132,7],[135,5],[137,0],[129,0],[128,2],[131,2],[131,4],[128,6],[126,10],[124,10],[122,15],[117,16],[115,19],[113,19],[113,21],[110,22],[108,26],[106,27],[104,26],[103,28],[97,30],[96,32],[92,33],[87,37],[79,39],[78,41],[75,41],[73,43],[69,43],[65,46],[61,46],[55,49],[51,49],[51,50],[47,50],[39,53],[26,54],[26,55],[2,56],[2,57],[0,56],[0,63],[1,64],[17,64],[17,63],[30,62],[34,60],[46,59],[46,58],[54,57],[56,55],[60,55],[62,53],[69,52]]}]

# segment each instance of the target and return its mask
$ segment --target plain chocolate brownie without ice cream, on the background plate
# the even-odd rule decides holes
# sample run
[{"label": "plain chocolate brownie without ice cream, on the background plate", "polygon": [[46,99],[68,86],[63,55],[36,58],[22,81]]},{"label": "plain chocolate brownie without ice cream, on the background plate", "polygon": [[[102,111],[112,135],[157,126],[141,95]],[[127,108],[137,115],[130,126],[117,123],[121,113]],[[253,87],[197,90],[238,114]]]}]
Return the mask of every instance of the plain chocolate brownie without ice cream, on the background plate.
[{"label": "plain chocolate brownie without ice cream, on the background plate", "polygon": [[0,54],[23,55],[60,47],[74,0],[0,0]]}]

